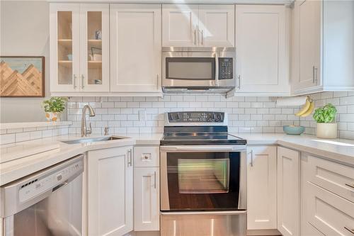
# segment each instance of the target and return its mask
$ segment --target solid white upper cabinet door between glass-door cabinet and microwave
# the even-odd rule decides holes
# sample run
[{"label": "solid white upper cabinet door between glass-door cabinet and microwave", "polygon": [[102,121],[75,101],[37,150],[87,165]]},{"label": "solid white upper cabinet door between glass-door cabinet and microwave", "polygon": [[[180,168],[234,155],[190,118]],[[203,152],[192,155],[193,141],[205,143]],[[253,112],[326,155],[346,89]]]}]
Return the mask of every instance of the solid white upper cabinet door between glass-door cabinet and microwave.
[{"label": "solid white upper cabinet door between glass-door cabinet and microwave", "polygon": [[110,5],[110,91],[161,91],[161,5]]}]

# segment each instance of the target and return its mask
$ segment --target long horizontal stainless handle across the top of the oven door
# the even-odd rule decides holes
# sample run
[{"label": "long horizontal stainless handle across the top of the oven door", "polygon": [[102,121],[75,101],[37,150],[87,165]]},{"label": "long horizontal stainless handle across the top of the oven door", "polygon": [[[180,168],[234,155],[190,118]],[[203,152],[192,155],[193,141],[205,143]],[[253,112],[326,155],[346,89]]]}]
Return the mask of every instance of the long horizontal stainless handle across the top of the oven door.
[{"label": "long horizontal stainless handle across the top of the oven door", "polygon": [[161,146],[161,151],[176,151],[176,152],[242,152],[246,151],[245,145],[239,146]]}]

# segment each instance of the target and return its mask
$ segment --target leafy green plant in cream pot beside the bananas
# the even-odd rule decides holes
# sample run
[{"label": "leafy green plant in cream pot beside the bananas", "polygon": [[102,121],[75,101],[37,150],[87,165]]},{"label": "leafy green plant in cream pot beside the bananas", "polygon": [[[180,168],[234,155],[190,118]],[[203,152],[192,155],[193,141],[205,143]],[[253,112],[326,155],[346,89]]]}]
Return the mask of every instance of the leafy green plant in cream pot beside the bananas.
[{"label": "leafy green plant in cream pot beside the bananas", "polygon": [[337,123],[334,122],[336,120],[336,113],[337,109],[331,103],[314,111],[313,117],[317,122],[317,137],[337,137]]}]

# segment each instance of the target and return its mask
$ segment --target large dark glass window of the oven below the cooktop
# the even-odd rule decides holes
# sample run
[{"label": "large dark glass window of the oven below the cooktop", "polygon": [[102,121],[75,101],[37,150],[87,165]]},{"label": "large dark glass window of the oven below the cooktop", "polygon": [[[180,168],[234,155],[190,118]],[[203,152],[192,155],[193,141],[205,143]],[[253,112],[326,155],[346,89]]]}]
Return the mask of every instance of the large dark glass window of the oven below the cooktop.
[{"label": "large dark glass window of the oven below the cooktop", "polygon": [[238,210],[239,152],[167,152],[170,210]]}]

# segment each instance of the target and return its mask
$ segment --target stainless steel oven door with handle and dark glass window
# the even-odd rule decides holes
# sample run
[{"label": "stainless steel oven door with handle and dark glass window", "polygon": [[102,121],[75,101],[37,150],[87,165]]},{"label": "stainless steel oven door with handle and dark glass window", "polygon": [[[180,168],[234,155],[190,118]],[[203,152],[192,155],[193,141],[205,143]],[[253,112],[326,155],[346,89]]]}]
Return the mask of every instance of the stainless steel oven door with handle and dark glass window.
[{"label": "stainless steel oven door with handle and dark glass window", "polygon": [[246,147],[161,146],[161,210],[245,210]]}]

